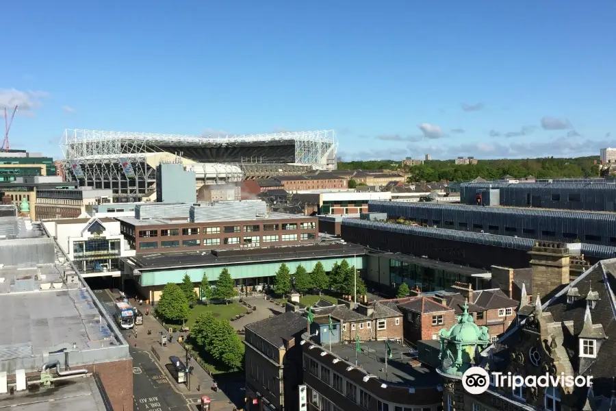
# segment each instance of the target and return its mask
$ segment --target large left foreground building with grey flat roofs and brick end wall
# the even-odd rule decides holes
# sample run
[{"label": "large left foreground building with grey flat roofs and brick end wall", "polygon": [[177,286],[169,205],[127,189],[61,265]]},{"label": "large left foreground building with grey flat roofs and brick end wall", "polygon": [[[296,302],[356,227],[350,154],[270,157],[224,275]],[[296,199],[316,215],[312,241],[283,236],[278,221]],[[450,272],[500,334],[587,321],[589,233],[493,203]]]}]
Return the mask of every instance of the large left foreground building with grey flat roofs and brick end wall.
[{"label": "large left foreground building with grey flat roofs and brick end wall", "polygon": [[0,310],[11,319],[0,334],[0,404],[133,410],[126,340],[44,226],[13,218],[16,233],[0,240]]}]

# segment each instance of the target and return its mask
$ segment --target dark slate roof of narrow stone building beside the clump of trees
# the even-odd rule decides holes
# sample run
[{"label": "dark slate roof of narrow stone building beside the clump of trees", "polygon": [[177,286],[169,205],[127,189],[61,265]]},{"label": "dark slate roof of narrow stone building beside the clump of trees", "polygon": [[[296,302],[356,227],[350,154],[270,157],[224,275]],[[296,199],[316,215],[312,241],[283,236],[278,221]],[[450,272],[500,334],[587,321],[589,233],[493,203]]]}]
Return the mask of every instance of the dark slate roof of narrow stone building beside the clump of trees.
[{"label": "dark slate roof of narrow stone building beside the clump of trees", "polygon": [[256,323],[246,324],[245,328],[276,347],[284,347],[285,340],[292,340],[296,334],[307,330],[307,322],[305,316],[288,311]]}]

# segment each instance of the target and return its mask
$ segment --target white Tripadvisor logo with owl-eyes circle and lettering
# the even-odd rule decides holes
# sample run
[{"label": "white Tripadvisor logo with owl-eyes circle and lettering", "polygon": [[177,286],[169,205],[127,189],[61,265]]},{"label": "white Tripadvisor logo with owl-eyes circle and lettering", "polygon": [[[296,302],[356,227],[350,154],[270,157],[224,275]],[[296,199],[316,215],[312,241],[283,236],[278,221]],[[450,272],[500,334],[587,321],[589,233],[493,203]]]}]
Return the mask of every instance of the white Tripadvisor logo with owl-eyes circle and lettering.
[{"label": "white Tripadvisor logo with owl-eyes circle and lettering", "polygon": [[593,377],[578,375],[513,375],[511,373],[491,373],[488,374],[485,369],[479,366],[472,366],[467,369],[462,375],[462,386],[467,393],[472,395],[483,394],[487,391],[490,385],[490,379],[492,384],[496,388],[520,388],[520,387],[557,387],[565,386],[567,388],[574,387],[591,387],[593,385]]}]

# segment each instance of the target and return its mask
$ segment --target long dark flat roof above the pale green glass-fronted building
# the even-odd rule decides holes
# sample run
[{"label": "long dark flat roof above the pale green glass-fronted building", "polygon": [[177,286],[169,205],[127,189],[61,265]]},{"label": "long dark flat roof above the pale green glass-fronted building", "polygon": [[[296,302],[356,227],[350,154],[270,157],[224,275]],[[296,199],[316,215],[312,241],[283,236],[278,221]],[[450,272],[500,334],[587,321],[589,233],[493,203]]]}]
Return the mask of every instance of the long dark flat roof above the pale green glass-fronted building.
[{"label": "long dark flat roof above the pale green glass-fronted building", "polygon": [[318,258],[352,257],[365,255],[365,247],[344,244],[342,247],[331,246],[290,246],[264,249],[262,253],[244,253],[242,249],[227,251],[224,256],[215,256],[209,251],[183,251],[177,253],[138,254],[124,258],[129,265],[140,271],[185,268],[190,266],[255,264],[279,262],[281,260],[314,260]]}]

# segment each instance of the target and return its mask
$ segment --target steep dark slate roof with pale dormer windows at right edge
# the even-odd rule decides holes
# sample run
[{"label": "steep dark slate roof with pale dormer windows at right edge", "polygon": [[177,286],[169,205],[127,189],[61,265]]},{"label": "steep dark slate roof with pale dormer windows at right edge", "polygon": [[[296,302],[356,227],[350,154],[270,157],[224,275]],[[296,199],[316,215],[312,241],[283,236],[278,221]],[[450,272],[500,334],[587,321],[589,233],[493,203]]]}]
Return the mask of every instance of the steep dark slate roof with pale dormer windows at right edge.
[{"label": "steep dark slate roof with pale dormer windows at right edge", "polygon": [[[578,289],[578,295],[574,303],[567,303],[567,294],[571,288]],[[549,301],[542,303],[541,312],[544,319],[552,317],[554,330],[571,329],[571,333],[562,333],[563,353],[569,358],[572,368],[576,375],[592,375],[593,388],[587,402],[587,389],[576,388],[583,392],[574,392],[580,398],[580,403],[576,409],[581,410],[603,410],[608,402],[611,401],[615,384],[613,378],[616,377],[614,363],[616,362],[616,258],[602,260],[585,271],[582,275],[574,279],[571,284],[561,287],[554,293]],[[587,297],[595,299],[595,308],[587,308]],[[532,312],[535,307],[524,307],[526,312]],[[537,311],[535,311],[537,312]],[[520,325],[524,325],[526,318],[522,319]],[[550,328],[552,329],[552,328]],[[499,357],[508,355],[509,350],[515,347],[521,332],[519,326],[513,327],[506,332],[498,343],[497,347],[491,346],[489,349],[496,349]],[[602,338],[598,347],[597,357],[580,358],[578,356],[578,338],[580,336]],[[501,346],[501,347],[498,347]]]}]

